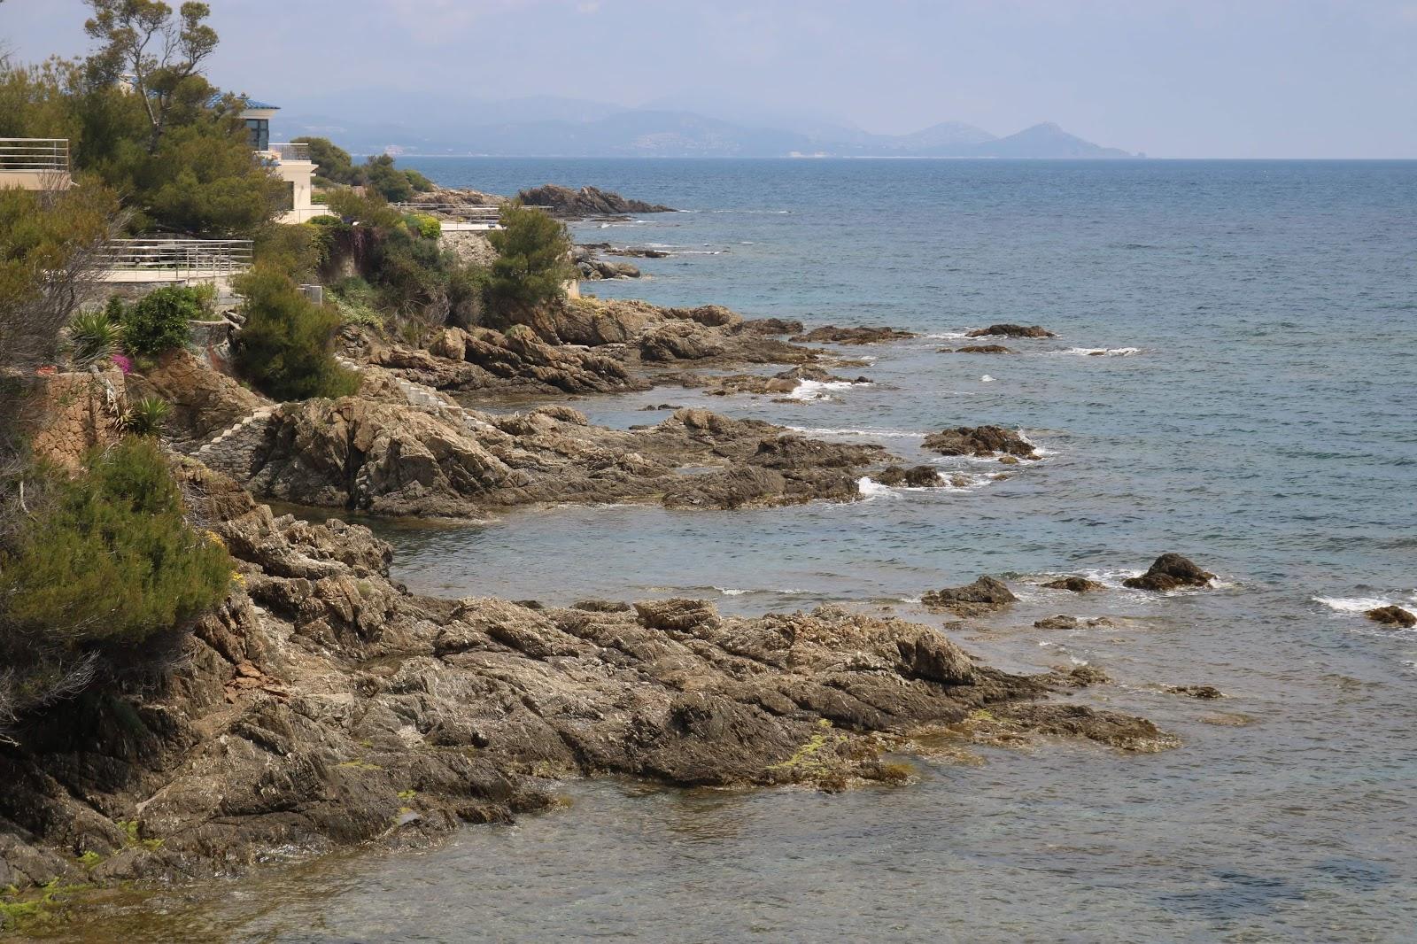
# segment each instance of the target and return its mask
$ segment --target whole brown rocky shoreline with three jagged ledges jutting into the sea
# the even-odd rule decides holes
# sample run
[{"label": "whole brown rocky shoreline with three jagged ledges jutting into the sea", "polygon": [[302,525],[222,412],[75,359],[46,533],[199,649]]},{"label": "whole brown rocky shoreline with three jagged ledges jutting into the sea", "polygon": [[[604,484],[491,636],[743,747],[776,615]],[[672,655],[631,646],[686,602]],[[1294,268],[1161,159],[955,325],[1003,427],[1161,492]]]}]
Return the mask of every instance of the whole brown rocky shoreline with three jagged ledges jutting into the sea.
[{"label": "whole brown rocky shoreline with three jagged ledges jutting into the sea", "polygon": [[[129,395],[171,404],[190,516],[238,573],[215,612],[167,641],[160,670],[0,746],[11,785],[0,795],[0,887],[193,879],[239,873],[272,849],[425,842],[544,809],[565,777],[897,782],[911,768],[888,755],[922,750],[920,734],[1173,747],[1144,719],[1067,702],[1105,680],[1087,666],[1013,675],[934,628],[842,607],[741,618],[699,600],[546,608],[422,597],[390,580],[391,549],[367,529],[261,503],[469,519],[543,503],[847,502],[866,478],[941,486],[938,469],[907,468],[879,445],[708,410],[611,429],[564,404],[478,408],[657,384],[791,395],[870,383],[832,373],[853,361],[799,342],[903,337],[578,299],[519,323],[448,326],[421,346],[346,329],[341,359],[361,386],[340,400],[271,403],[210,354],[183,350],[123,378]],[[703,373],[743,366],[785,370]],[[945,429],[925,446],[1037,458],[999,427]],[[1009,591],[988,581],[927,594],[927,608],[976,617],[1006,605]]]}]

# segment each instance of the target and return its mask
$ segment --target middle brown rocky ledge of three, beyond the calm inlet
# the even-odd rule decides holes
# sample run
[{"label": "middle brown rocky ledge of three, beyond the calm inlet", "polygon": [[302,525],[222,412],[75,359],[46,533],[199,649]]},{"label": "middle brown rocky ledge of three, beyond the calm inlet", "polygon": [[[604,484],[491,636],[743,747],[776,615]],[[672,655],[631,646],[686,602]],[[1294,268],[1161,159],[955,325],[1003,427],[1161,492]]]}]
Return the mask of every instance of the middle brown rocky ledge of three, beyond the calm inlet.
[{"label": "middle brown rocky ledge of three, beyond the calm inlet", "polygon": [[218,461],[262,498],[376,515],[475,516],[548,502],[672,507],[854,500],[887,456],[752,420],[679,410],[629,431],[567,407],[496,415],[347,397],[282,404],[239,461]]}]

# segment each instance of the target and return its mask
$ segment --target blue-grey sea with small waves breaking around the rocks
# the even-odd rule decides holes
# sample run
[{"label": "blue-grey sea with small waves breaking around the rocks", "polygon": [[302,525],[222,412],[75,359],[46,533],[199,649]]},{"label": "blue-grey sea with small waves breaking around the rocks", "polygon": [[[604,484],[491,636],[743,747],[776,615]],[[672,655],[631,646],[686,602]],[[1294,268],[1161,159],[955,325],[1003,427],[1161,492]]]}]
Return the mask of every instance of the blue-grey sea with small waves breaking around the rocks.
[{"label": "blue-grey sea with small waves breaking around the rocks", "polygon": [[[785,400],[565,398],[592,422],[708,405],[881,444],[951,483],[381,523],[398,580],[563,605],[833,602],[941,626],[921,594],[993,574],[1020,602],[942,632],[1006,669],[1101,668],[1114,683],[1076,697],[1183,746],[975,748],[836,795],[568,782],[555,812],[272,867],[135,940],[1417,940],[1417,631],[1363,617],[1417,612],[1417,162],[402,163],[442,186],[591,184],[680,210],[577,224],[578,241],[669,254],[587,293],[917,335],[833,349],[870,383]],[[996,322],[1057,336],[951,353]],[[986,422],[1043,459],[921,448]],[[1165,551],[1216,585],[1121,585]],[[1061,574],[1108,590],[1040,585]],[[1054,614],[1084,625],[1033,626]]]}]

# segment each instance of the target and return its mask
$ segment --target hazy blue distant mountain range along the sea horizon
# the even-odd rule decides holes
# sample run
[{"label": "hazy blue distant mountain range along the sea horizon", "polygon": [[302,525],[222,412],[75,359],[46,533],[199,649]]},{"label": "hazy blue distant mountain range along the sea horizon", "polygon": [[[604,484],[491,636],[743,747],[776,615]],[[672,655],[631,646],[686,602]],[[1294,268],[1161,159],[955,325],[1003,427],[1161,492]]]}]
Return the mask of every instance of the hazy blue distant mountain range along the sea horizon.
[{"label": "hazy blue distant mountain range along the sea horizon", "polygon": [[[910,135],[873,135],[826,116],[747,105],[717,116],[621,108],[551,96],[487,102],[367,89],[286,102],[276,133],[320,135],[353,153],[492,157],[1134,157],[1046,122],[999,137],[944,122]],[[397,116],[377,120],[373,116]],[[735,120],[737,119],[737,120]]]}]

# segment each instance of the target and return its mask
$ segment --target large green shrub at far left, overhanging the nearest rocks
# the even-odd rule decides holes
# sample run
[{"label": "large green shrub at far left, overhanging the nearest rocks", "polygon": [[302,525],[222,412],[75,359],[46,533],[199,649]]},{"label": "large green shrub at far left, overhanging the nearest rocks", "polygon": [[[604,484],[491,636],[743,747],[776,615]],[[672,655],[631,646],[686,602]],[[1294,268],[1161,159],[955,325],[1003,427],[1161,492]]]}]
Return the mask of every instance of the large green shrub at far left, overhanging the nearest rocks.
[{"label": "large green shrub at far left, overhanging the nearest rocks", "polygon": [[225,597],[231,558],[183,517],[156,442],[123,439],[85,468],[0,558],[10,632],[71,649],[130,645]]}]

